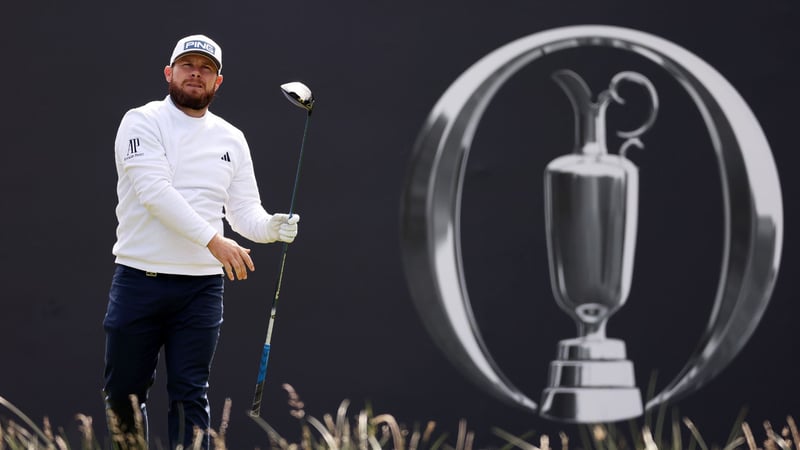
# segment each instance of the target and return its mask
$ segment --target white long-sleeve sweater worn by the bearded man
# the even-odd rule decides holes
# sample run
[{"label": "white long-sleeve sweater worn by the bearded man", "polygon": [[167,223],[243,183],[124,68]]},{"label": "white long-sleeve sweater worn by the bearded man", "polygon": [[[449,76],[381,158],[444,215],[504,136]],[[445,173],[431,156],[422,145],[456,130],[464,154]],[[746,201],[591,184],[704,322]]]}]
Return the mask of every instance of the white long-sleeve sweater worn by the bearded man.
[{"label": "white long-sleeve sweater worn by the bearded man", "polygon": [[222,273],[206,245],[223,233],[223,217],[247,239],[270,242],[247,141],[222,118],[210,111],[188,116],[169,97],[150,102],[122,118],[115,151],[117,263]]}]

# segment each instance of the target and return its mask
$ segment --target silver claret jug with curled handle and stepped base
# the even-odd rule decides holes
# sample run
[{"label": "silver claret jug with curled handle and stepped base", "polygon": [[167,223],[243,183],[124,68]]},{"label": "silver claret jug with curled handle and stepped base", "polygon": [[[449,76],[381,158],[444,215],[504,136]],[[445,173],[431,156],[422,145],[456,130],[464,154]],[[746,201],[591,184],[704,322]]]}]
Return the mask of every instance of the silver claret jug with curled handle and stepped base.
[{"label": "silver claret jug with curled handle and stepped base", "polygon": [[[553,78],[575,112],[575,148],[545,169],[547,252],[553,295],[575,320],[578,336],[558,344],[541,414],[582,423],[636,417],[642,399],[633,364],[625,343],[606,337],[606,322],[627,300],[633,273],[639,174],[626,152],[644,147],[639,137],[655,122],[658,96],[636,72],[615,75],[596,101],[575,72],[561,70]],[[606,109],[625,103],[617,90],[623,81],[644,86],[652,106],[641,127],[617,132],[624,142],[611,154]]]}]

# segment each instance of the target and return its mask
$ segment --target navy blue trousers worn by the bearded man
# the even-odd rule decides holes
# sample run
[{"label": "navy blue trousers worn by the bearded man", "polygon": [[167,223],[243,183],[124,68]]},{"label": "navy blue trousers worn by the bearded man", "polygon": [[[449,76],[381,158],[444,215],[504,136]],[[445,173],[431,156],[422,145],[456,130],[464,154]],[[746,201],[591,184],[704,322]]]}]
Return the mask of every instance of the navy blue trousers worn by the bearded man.
[{"label": "navy blue trousers worn by the bearded man", "polygon": [[[208,379],[222,325],[221,275],[157,274],[117,265],[103,327],[106,408],[134,433],[135,394],[147,438],[147,396],[164,349],[170,448],[191,447],[194,427],[210,427]],[[206,435],[204,447],[208,448]]]}]

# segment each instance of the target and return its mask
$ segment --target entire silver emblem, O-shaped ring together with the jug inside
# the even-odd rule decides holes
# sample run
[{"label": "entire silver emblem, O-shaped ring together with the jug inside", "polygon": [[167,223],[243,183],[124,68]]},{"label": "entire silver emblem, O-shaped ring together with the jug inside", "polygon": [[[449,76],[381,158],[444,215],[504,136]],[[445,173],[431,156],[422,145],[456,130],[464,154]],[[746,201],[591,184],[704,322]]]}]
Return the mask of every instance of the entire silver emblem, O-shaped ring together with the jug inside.
[{"label": "entire silver emblem, O-shaped ring together with the jug inside", "polygon": [[[570,338],[571,333],[566,331],[565,336],[557,337],[562,340],[556,357],[547,358],[549,379],[543,392],[536,393],[539,401],[515,386],[493,358],[483,338],[486,330],[481,329],[473,310],[475,301],[489,299],[470,295],[464,266],[461,203],[469,174],[464,168],[488,106],[500,88],[523,68],[574,49],[587,50],[587,56],[595,49],[613,49],[646,62],[648,74],[670,79],[662,95],[666,96],[669,89],[670,99],[686,95],[684,100],[694,106],[683,111],[676,102],[670,105],[671,112],[699,112],[710,138],[687,142],[675,150],[711,151],[717,163],[711,178],[719,184],[709,188],[719,189],[721,194],[717,207],[722,210],[722,229],[715,234],[715,238],[722,238],[717,290],[713,298],[686,292],[676,299],[683,302],[676,307],[686,308],[689,314],[706,307],[697,308],[699,304],[711,306],[711,313],[683,368],[663,389],[648,396],[644,405],[625,342],[617,336],[607,337],[606,326],[625,305],[629,293],[635,297],[631,300],[634,304],[645,303],[648,299],[638,297],[658,288],[633,284],[634,259],[656,271],[663,267],[660,255],[647,254],[643,246],[636,249],[639,180],[640,176],[644,180],[654,177],[649,173],[650,166],[639,174],[627,157],[650,157],[649,149],[640,152],[634,148],[643,147],[641,136],[651,129],[656,115],[664,131],[681,129],[671,114],[658,113],[658,96],[650,80],[630,71],[609,72],[609,84],[601,79],[598,86],[603,87],[596,90],[596,97],[588,83],[570,70],[557,71],[552,74],[555,83],[548,83],[554,89],[560,86],[566,93],[564,100],[572,103],[575,147],[571,152],[568,145],[556,149],[560,156],[546,165],[546,192],[536,194],[544,196],[546,230],[545,236],[534,238],[546,238],[549,268],[544,270],[550,275],[549,290],[577,325],[577,333]],[[577,53],[574,56],[578,57]],[[608,61],[595,69],[604,70],[612,64]],[[638,63],[630,60],[630,64]],[[673,87],[678,92],[673,93]],[[550,105],[544,102],[539,106],[545,108],[539,112],[547,114],[547,120],[570,120],[570,114],[549,114]],[[608,116],[607,109],[611,113]],[[625,115],[617,116],[617,112]],[[613,125],[608,127],[612,130],[608,140],[607,117]],[[625,125],[618,126],[618,117]],[[642,125],[636,128],[639,123]],[[630,128],[636,129],[614,133]],[[541,148],[540,135],[532,132],[527,137],[528,149]],[[453,80],[431,108],[414,144],[409,167],[402,199],[403,263],[420,318],[443,354],[466,378],[498,400],[532,414],[557,422],[592,424],[633,418],[645,410],[674,404],[725,370],[748,342],[769,305],[780,268],[784,225],[780,180],[767,137],[754,112],[723,74],[690,50],[660,36],[609,25],[573,25],[539,31],[498,47]],[[674,194],[670,186],[648,183],[647,187],[643,204],[659,201],[654,196],[659,195],[659,188],[663,188],[661,195]],[[685,203],[688,206],[694,200],[687,198]],[[711,217],[713,211],[709,214]],[[658,224],[656,228],[650,228],[652,222],[647,224],[647,233],[659,233]],[[671,239],[679,245],[687,243],[678,236]],[[660,275],[664,280],[671,279],[672,269],[663,267]],[[533,291],[546,296],[548,286],[535,285],[534,280],[531,283]],[[540,312],[537,318],[547,320]],[[608,330],[609,335],[615,334],[613,327]],[[553,335],[552,328],[532,331]],[[670,336],[652,336],[647,330],[624,338],[647,341],[653,351],[669,345],[670,340]],[[506,349],[526,355],[529,350],[524,344]]]}]

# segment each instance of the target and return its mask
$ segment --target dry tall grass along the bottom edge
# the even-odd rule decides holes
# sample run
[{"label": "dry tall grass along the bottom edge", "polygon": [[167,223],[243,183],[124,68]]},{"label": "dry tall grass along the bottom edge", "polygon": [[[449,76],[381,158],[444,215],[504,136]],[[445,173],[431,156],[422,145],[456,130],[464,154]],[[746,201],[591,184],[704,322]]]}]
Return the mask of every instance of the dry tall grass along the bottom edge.
[{"label": "dry tall grass along the bottom edge", "polygon": [[[272,426],[260,417],[251,417],[267,435],[271,450],[473,450],[481,447],[475,442],[475,434],[467,428],[464,420],[459,422],[455,442],[448,440],[447,433],[434,436],[436,423],[427,422],[424,428],[418,426],[408,429],[390,414],[374,415],[367,407],[350,416],[349,400],[344,400],[335,416],[325,414],[322,420],[306,414],[305,405],[299,395],[288,384],[283,385],[289,396],[290,414],[300,425],[300,436],[296,442],[281,436]],[[136,402],[135,398],[131,399]],[[137,403],[134,403],[137,404]],[[12,413],[14,418],[0,416],[0,450],[71,450],[63,432],[54,433],[50,421],[45,417],[41,427],[26,416],[20,409],[5,398],[0,397],[0,406]],[[138,408],[134,408],[138,411]],[[213,450],[228,450],[225,442],[230,422],[231,402],[225,401],[222,420],[218,429],[194,430],[193,445],[190,449],[178,446],[175,450],[199,450],[205,433],[211,437]],[[550,436],[517,436],[500,428],[493,434],[504,441],[499,450],[792,450],[798,448],[800,432],[792,416],[786,424],[776,431],[770,422],[763,422],[763,435],[756,437],[750,425],[744,421],[744,410],[740,413],[725,444],[708,446],[697,427],[688,418],[680,418],[677,410],[672,410],[669,433],[664,432],[665,410],[661,409],[653,421],[648,414],[644,425],[629,422],[626,433],[613,424],[598,424],[581,427],[580,445],[573,445],[569,437],[561,432],[557,442],[551,443]],[[94,432],[92,418],[78,414],[76,420],[81,432],[81,450],[103,450],[100,439]],[[21,421],[21,423],[19,422]],[[113,450],[143,450],[147,443],[142,432],[141,417],[137,418],[135,433],[123,433],[116,425],[113,415],[107,417],[109,436],[104,438],[105,448]],[[685,429],[684,429],[685,428]],[[684,443],[683,433],[688,432]],[[536,443],[531,440],[537,440]],[[255,450],[259,450],[258,447]]]}]

